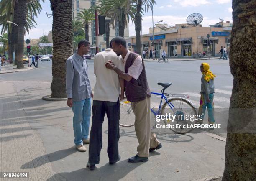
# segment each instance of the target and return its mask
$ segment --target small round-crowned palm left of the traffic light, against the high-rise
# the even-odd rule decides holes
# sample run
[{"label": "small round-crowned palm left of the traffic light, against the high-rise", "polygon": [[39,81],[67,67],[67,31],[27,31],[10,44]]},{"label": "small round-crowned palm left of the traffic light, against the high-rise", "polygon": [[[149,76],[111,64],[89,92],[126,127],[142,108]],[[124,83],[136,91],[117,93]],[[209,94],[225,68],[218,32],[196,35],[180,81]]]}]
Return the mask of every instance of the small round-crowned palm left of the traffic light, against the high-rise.
[{"label": "small round-crowned palm left of the traffic light, against the high-rise", "polygon": [[78,16],[84,25],[85,39],[89,41],[89,25],[92,24],[93,20],[95,20],[95,15],[92,9],[84,9],[81,13],[78,14]]}]

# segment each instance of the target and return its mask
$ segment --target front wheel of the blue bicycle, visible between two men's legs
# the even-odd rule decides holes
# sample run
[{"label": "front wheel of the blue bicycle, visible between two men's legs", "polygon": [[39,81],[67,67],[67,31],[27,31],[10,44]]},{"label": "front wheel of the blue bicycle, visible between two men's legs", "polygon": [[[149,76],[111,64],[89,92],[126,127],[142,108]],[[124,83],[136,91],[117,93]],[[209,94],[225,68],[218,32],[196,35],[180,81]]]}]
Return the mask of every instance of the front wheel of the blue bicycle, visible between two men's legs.
[{"label": "front wheel of the blue bicycle, visible between two men's legs", "polygon": [[120,102],[120,120],[119,125],[122,127],[131,127],[134,125],[135,115],[131,108],[131,102],[124,100]]}]

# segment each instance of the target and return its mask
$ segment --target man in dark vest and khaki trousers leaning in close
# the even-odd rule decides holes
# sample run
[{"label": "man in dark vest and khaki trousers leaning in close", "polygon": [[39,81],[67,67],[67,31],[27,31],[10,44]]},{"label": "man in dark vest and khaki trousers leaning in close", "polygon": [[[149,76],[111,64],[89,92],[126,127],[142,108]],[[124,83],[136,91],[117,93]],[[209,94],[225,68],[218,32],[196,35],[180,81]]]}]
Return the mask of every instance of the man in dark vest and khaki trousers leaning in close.
[{"label": "man in dark vest and khaki trousers leaning in close", "polygon": [[125,80],[125,94],[131,102],[135,114],[135,132],[138,139],[137,155],[128,159],[128,162],[148,161],[149,152],[162,147],[151,133],[150,116],[150,89],[146,78],[143,59],[138,54],[126,48],[126,41],[123,37],[115,37],[111,40],[113,51],[119,56],[122,55],[125,64],[125,72],[118,69],[112,61],[105,63],[108,69],[114,70]]}]

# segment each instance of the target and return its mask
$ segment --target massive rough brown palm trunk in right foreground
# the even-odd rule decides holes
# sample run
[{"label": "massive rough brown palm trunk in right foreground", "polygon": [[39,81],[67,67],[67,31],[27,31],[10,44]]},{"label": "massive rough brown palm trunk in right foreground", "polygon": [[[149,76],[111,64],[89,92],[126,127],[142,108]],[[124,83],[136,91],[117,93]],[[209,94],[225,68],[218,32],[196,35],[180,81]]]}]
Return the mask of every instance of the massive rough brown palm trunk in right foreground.
[{"label": "massive rough brown palm trunk in right foreground", "polygon": [[[233,0],[232,2],[230,69],[234,80],[222,181],[255,180],[256,49],[252,48],[255,47],[253,40],[256,39],[255,7],[255,0]],[[248,129],[251,129],[254,134],[247,134]]]}]

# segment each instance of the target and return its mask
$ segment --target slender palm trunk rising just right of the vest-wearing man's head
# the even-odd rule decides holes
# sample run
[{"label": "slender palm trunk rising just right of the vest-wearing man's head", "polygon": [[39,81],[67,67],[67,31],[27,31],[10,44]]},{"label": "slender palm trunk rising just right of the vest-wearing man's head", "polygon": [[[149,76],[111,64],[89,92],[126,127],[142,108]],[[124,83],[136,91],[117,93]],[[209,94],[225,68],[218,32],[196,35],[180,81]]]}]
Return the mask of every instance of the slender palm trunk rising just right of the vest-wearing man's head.
[{"label": "slender palm trunk rising just right of the vest-wearing man's head", "polygon": [[137,54],[141,54],[141,4],[142,1],[137,1],[137,12],[135,15],[135,33],[136,33],[136,47],[137,47]]}]

